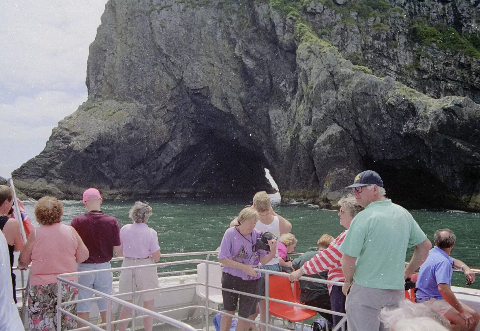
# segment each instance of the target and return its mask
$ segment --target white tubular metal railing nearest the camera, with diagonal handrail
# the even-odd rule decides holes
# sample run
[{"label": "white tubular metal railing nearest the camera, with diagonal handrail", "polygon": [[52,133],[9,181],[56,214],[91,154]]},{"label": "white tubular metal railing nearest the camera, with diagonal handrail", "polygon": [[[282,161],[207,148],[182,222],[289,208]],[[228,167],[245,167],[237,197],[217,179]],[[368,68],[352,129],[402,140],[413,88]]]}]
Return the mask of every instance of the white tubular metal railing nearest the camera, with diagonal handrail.
[{"label": "white tubular metal railing nearest the camera, with diagonal handrail", "polygon": [[[200,254],[199,254],[200,255]],[[183,255],[183,256],[187,256],[187,255]],[[266,322],[265,323],[262,323],[262,322],[258,322],[258,321],[252,321],[250,319],[246,319],[246,318],[243,318],[243,317],[240,317],[240,316],[236,316],[236,315],[231,315],[231,314],[228,314],[226,312],[223,312],[223,311],[220,311],[220,310],[217,310],[217,309],[214,309],[214,308],[211,308],[209,307],[209,301],[208,300],[205,300],[205,306],[200,306],[200,305],[191,305],[191,306],[187,306],[187,307],[181,307],[181,308],[176,308],[176,309],[170,309],[170,310],[165,310],[165,311],[161,311],[159,313],[155,313],[155,312],[152,312],[148,309],[145,309],[143,307],[140,307],[140,306],[137,306],[133,303],[130,303],[130,302],[127,302],[127,301],[124,301],[122,299],[120,299],[118,296],[124,296],[124,295],[132,295],[132,302],[135,302],[135,297],[138,296],[139,294],[141,293],[145,293],[145,292],[151,292],[151,291],[157,291],[159,290],[160,288],[155,288],[155,289],[149,289],[149,290],[143,290],[143,291],[135,291],[135,286],[134,284],[132,284],[132,289],[133,291],[132,292],[129,292],[129,293],[121,293],[121,294],[117,294],[117,295],[113,295],[113,296],[109,296],[109,295],[106,295],[104,293],[101,293],[101,292],[98,292],[98,291],[95,291],[95,290],[92,290],[86,286],[83,286],[83,285],[80,285],[76,282],[73,282],[73,281],[70,281],[68,279],[66,279],[65,277],[72,277],[72,276],[78,276],[78,275],[83,275],[83,274],[93,274],[93,273],[98,273],[98,272],[108,272],[108,271],[122,271],[122,270],[132,270],[132,282],[134,282],[134,279],[135,279],[135,270],[138,269],[138,268],[145,268],[145,267],[165,267],[165,266],[173,266],[173,265],[183,265],[183,264],[198,264],[198,263],[205,263],[205,283],[188,283],[188,284],[180,284],[180,285],[176,285],[175,287],[177,288],[181,288],[181,287],[184,287],[184,286],[192,286],[192,285],[203,285],[205,286],[205,297],[208,298],[208,290],[209,288],[216,288],[216,289],[220,289],[220,290],[223,290],[223,291],[228,291],[228,292],[233,292],[233,293],[238,293],[238,294],[243,294],[243,295],[247,295],[247,296],[253,296],[253,297],[256,297],[258,299],[261,299],[261,300],[265,300],[265,312],[266,312]],[[181,260],[181,261],[171,261],[171,262],[163,262],[163,263],[155,263],[155,264],[149,264],[149,265],[142,265],[142,266],[132,266],[132,267],[120,267],[120,268],[110,268],[110,269],[103,269],[103,270],[93,270],[93,271],[85,271],[85,272],[71,272],[71,273],[65,273],[65,274],[61,274],[57,277],[58,279],[58,283],[57,283],[57,286],[59,286],[59,289],[61,288],[61,284],[62,283],[65,283],[65,284],[70,284],[71,286],[73,287],[77,287],[77,288],[80,288],[82,290],[85,290],[85,291],[88,291],[90,293],[93,293],[95,294],[97,297],[92,297],[92,298],[87,298],[87,299],[82,299],[82,300],[73,300],[73,301],[67,301],[67,302],[62,302],[61,301],[61,298],[59,298],[58,302],[57,302],[57,310],[58,310],[58,314],[57,314],[57,318],[58,318],[58,324],[57,324],[57,330],[60,330],[61,328],[61,315],[62,314],[65,314],[65,315],[68,315],[70,316],[72,319],[75,319],[77,321],[80,321],[86,325],[88,325],[87,327],[83,327],[83,328],[77,328],[77,329],[74,329],[74,331],[82,331],[82,330],[88,330],[89,328],[94,328],[94,330],[99,330],[101,331],[102,329],[100,329],[102,326],[105,326],[107,328],[107,330],[112,330],[112,325],[114,324],[118,324],[120,322],[125,322],[125,321],[132,321],[132,330],[135,330],[135,320],[136,319],[139,319],[139,318],[143,318],[145,316],[152,316],[154,317],[155,319],[158,319],[160,321],[163,321],[163,322],[166,322],[168,324],[171,324],[173,326],[176,326],[178,328],[183,328],[183,330],[188,330],[188,331],[192,331],[192,330],[195,330],[195,329],[192,329],[192,327],[189,326],[189,328],[186,328],[185,326],[188,326],[188,324],[186,323],[183,323],[183,322],[180,322],[180,321],[177,321],[175,319],[171,319],[167,316],[165,316],[165,314],[167,313],[171,313],[171,312],[175,312],[175,311],[179,311],[179,310],[183,310],[183,309],[192,309],[192,308],[196,308],[196,309],[202,309],[204,311],[203,315],[204,315],[204,319],[206,321],[205,325],[206,325],[206,331],[209,331],[209,324],[208,324],[208,319],[209,319],[209,315],[211,313],[220,313],[222,315],[227,315],[227,316],[230,316],[230,317],[235,317],[237,319],[243,319],[243,320],[246,320],[246,321],[249,321],[249,322],[253,322],[255,324],[258,324],[258,325],[263,325],[265,327],[265,330],[266,331],[271,331],[273,330],[272,327],[273,327],[273,324],[270,323],[270,317],[269,317],[269,303],[270,302],[279,302],[279,303],[283,303],[283,304],[286,304],[286,305],[290,305],[290,306],[296,306],[296,307],[302,307],[302,308],[308,308],[308,309],[312,309],[312,310],[315,310],[317,312],[320,312],[320,313],[328,313],[328,314],[333,314],[333,315],[338,315],[338,316],[341,316],[342,317],[342,320],[340,321],[340,323],[336,326],[336,328],[334,328],[332,331],[338,331],[338,330],[345,330],[345,322],[347,321],[347,318],[345,317],[345,314],[343,313],[339,313],[339,312],[336,312],[336,311],[332,311],[332,310],[328,310],[328,309],[323,309],[323,308],[317,308],[317,307],[312,307],[312,306],[306,306],[306,305],[302,305],[302,304],[298,304],[298,303],[295,303],[295,302],[288,302],[288,301],[284,301],[284,300],[279,300],[279,299],[274,299],[274,298],[270,298],[269,297],[269,277],[265,277],[265,296],[259,296],[259,295],[254,295],[254,294],[249,294],[249,293],[244,293],[244,292],[240,292],[240,291],[235,291],[235,290],[230,290],[230,289],[224,289],[220,286],[215,286],[215,285],[212,285],[212,284],[208,284],[208,277],[209,277],[209,271],[208,271],[208,267],[209,265],[211,264],[215,264],[215,265],[222,265],[221,263],[219,262],[215,262],[215,261],[209,261],[209,260]],[[264,273],[267,273],[267,274],[275,274],[275,275],[278,275],[278,276],[282,276],[282,277],[288,277],[288,274],[287,273],[284,273],[284,272],[275,272],[275,271],[270,271],[270,270],[264,270],[264,269],[254,269],[255,271],[257,272],[264,272]],[[182,270],[179,270],[179,271],[176,271],[177,273],[183,273]],[[159,275],[163,275],[163,272],[159,272]],[[340,282],[332,282],[332,281],[327,281],[327,280],[323,280],[323,279],[318,279],[318,278],[311,278],[311,277],[301,277],[300,279],[302,280],[307,280],[307,281],[312,281],[312,282],[315,282],[315,283],[323,283],[323,284],[333,284],[333,285],[339,285],[341,286],[342,283]],[[58,293],[61,293],[61,292],[58,292]],[[102,299],[102,298],[106,298],[107,299],[107,322],[104,323],[104,324],[97,324],[97,325],[94,325],[92,323],[90,323],[89,321],[85,321],[83,319],[80,319],[78,318],[76,315],[73,315],[72,313],[66,311],[65,309],[63,309],[62,307],[65,306],[65,305],[69,305],[69,304],[75,304],[75,303],[80,303],[80,302],[84,302],[84,301],[94,301],[94,300],[99,300],[99,299]],[[121,320],[116,320],[116,321],[112,321],[112,316],[111,316],[111,303],[112,302],[116,302],[120,305],[124,305],[124,306],[127,306],[127,307],[130,307],[132,308],[132,317],[131,318],[128,318],[128,319],[121,319]],[[109,312],[110,311],[110,312]],[[135,311],[140,311],[140,312],[143,312],[144,315],[141,315],[141,316],[135,316]],[[281,330],[281,331],[289,331],[288,329],[285,329],[285,328],[281,328],[281,327],[278,327],[278,326],[275,326],[275,329],[276,330]]]}]

